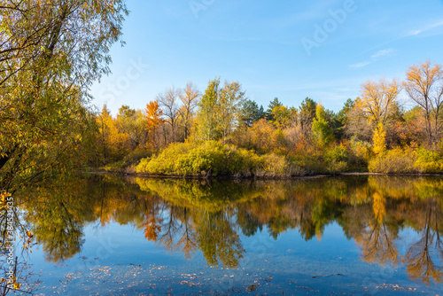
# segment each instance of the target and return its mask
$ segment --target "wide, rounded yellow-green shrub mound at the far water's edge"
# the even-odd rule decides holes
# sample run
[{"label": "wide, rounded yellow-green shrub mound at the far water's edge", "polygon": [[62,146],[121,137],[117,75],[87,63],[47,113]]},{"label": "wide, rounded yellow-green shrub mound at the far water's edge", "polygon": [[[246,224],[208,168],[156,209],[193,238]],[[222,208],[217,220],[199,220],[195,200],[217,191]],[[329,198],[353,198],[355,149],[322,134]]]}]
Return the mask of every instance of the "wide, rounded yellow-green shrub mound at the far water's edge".
[{"label": "wide, rounded yellow-green shrub mound at the far water's edge", "polygon": [[236,175],[275,177],[305,174],[274,153],[257,155],[253,151],[209,141],[201,145],[171,144],[158,156],[141,160],[137,173],[152,175]]}]

